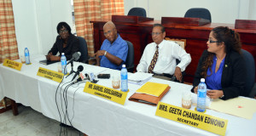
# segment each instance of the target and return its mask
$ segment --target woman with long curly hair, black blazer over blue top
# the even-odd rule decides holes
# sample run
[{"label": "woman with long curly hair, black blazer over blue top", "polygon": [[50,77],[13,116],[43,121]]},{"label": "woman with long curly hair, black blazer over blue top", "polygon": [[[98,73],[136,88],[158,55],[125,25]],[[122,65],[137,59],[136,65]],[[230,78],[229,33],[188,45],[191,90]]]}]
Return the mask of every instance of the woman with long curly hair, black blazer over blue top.
[{"label": "woman with long curly hair, black blazer over blue top", "polygon": [[207,50],[201,55],[195,71],[194,88],[206,78],[207,96],[211,99],[231,99],[244,93],[246,70],[241,56],[240,36],[228,27],[212,29]]}]

